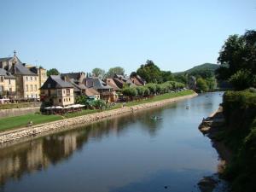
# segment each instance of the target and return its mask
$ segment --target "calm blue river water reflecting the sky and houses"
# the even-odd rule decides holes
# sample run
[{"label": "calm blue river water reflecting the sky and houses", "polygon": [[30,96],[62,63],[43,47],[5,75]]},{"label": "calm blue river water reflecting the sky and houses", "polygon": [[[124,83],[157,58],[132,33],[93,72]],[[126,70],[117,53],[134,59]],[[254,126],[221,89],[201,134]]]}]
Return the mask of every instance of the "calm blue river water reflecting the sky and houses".
[{"label": "calm blue river water reflecting the sky and houses", "polygon": [[219,94],[0,148],[0,191],[199,191],[201,177],[217,172],[218,154],[198,125]]}]

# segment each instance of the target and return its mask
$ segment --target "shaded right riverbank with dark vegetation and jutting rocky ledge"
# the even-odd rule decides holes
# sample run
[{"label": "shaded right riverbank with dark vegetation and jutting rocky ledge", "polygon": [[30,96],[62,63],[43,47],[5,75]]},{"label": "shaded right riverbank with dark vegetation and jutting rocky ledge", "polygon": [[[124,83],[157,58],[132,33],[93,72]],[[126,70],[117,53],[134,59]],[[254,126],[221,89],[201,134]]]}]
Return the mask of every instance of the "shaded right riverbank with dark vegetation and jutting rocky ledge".
[{"label": "shaded right riverbank with dark vegetation and jutting rocky ledge", "polygon": [[[230,183],[232,192],[256,191],[256,91],[226,91],[219,109],[204,119],[200,130],[210,137],[212,146],[224,159],[220,176]],[[214,127],[214,122],[222,125]],[[209,121],[211,123],[209,123]]]}]

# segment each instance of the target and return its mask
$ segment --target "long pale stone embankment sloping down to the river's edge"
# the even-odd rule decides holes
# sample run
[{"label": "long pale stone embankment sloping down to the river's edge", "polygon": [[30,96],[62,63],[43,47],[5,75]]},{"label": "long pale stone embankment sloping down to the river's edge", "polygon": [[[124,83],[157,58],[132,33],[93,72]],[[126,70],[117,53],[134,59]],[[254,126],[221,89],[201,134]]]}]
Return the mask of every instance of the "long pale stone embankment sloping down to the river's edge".
[{"label": "long pale stone embankment sloping down to the river's edge", "polygon": [[106,119],[108,117],[114,117],[123,113],[134,113],[144,108],[160,107],[170,102],[177,102],[179,100],[191,98],[194,96],[197,96],[197,94],[192,94],[189,96],[179,96],[176,98],[166,99],[159,102],[148,102],[145,104],[139,104],[132,107],[124,107],[124,108],[118,108],[118,109],[113,109],[109,111],[103,111],[101,113],[87,114],[87,115],[74,117],[70,119],[61,119],[61,120],[57,120],[57,121],[42,124],[42,125],[34,125],[31,127],[15,129],[13,131],[3,131],[3,132],[0,132],[0,143],[14,142],[15,140],[23,137],[35,137],[38,134],[42,134],[47,131],[50,132],[55,130],[61,130],[68,126],[74,126],[74,125],[84,125],[84,124],[94,122],[96,120]]}]

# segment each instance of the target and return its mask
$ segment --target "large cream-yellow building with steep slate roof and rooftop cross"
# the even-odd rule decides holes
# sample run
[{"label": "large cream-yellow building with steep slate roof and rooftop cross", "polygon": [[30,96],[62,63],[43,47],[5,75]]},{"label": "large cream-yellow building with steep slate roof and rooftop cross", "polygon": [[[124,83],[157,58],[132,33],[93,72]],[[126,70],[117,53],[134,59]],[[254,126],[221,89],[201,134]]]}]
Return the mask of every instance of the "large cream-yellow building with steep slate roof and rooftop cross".
[{"label": "large cream-yellow building with steep slate roof and rooftop cross", "polygon": [[17,99],[38,99],[39,87],[46,80],[46,70],[42,67],[27,66],[17,57],[0,59],[0,68],[15,76]]}]

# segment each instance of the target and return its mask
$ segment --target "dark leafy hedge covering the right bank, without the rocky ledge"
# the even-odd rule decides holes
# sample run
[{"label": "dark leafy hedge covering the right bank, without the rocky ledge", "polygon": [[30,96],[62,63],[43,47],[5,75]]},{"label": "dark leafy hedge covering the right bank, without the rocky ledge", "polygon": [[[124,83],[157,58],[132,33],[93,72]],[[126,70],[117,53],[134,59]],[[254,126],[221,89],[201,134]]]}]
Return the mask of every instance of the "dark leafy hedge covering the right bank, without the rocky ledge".
[{"label": "dark leafy hedge covering the right bank, without the rocky ledge", "polygon": [[223,107],[227,125],[217,139],[234,154],[223,177],[230,181],[231,191],[256,191],[256,92],[227,91]]}]

